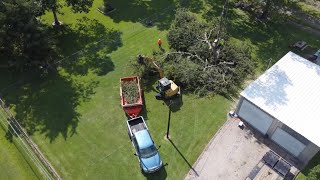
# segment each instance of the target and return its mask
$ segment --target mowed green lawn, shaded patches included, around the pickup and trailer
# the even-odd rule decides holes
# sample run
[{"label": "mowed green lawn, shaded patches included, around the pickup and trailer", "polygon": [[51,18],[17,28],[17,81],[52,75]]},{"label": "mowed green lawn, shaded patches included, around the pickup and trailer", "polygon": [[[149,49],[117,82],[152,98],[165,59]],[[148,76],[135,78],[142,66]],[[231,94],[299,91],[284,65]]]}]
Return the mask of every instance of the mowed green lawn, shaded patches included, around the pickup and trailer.
[{"label": "mowed green lawn, shaded patches included, around the pickup and trailer", "polygon": [[[109,16],[95,10],[102,0],[94,1],[89,14],[72,14],[64,8],[59,18],[68,26],[63,33],[57,33],[62,59],[59,75],[27,81],[5,96],[63,179],[182,179],[226,119],[230,106],[226,98],[197,98],[183,93],[181,107],[175,107],[171,114],[172,142],[166,141],[168,107],[155,100],[150,84],[144,86],[143,115],[156,144],[161,145],[160,155],[167,165],[153,176],[141,173],[120,107],[119,78],[133,74],[129,61],[138,54],[158,50],[158,38],[168,50],[166,33],[176,5],[172,0],[139,2],[110,0],[117,10]],[[210,6],[219,12],[223,3],[185,2],[196,13],[204,13],[201,9]],[[214,16],[216,12],[210,13]],[[209,15],[204,13],[203,17]],[[261,71],[266,60],[272,58],[275,62],[283,56],[290,43],[304,39],[319,45],[317,38],[287,28],[289,25],[264,27],[238,10],[232,11],[230,18],[231,35],[252,46]],[[157,26],[142,25],[145,19]],[[49,24],[53,17],[48,13],[42,20]],[[72,55],[74,52],[78,53]]]}]

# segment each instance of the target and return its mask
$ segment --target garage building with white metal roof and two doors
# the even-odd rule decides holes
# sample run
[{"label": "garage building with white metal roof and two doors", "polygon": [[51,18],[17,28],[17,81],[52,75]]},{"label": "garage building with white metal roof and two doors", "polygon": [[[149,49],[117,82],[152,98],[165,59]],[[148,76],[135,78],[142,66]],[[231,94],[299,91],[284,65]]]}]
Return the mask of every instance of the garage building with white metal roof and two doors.
[{"label": "garage building with white metal roof and two doors", "polygon": [[235,112],[306,165],[320,149],[320,66],[288,52],[240,93]]}]

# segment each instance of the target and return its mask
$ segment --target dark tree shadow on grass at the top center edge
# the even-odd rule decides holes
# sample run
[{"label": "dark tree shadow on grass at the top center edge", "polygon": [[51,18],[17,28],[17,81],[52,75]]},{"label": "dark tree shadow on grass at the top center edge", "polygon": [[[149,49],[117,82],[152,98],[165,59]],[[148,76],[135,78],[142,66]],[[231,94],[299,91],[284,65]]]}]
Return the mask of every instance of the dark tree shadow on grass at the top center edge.
[{"label": "dark tree shadow on grass at the top center edge", "polygon": [[108,15],[114,22],[140,22],[145,26],[156,25],[160,30],[170,27],[174,19],[173,10],[176,8],[173,0],[104,0],[104,2],[116,8]]}]

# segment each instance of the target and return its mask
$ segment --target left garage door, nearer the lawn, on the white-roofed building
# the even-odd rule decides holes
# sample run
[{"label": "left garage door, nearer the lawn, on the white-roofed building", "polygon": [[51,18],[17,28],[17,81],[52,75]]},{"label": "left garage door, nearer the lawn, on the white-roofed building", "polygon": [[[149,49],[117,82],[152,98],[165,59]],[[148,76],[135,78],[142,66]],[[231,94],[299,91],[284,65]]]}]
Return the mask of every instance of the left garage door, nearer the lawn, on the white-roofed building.
[{"label": "left garage door, nearer the lawn, on the white-roofed building", "polygon": [[273,121],[271,116],[245,99],[242,101],[238,115],[262,134],[267,133]]}]

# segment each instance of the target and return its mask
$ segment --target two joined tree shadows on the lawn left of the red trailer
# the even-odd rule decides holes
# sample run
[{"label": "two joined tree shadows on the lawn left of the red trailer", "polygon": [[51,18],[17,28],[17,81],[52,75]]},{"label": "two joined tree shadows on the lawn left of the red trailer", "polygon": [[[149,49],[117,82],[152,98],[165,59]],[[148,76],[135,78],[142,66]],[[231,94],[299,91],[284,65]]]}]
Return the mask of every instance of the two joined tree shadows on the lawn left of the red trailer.
[{"label": "two joined tree shadows on the lawn left of the red trailer", "polygon": [[42,80],[33,78],[5,96],[27,132],[43,134],[50,142],[60,135],[66,140],[76,133],[81,117],[77,107],[90,99],[98,86],[96,76],[86,75],[112,71],[114,64],[108,54],[122,45],[119,31],[106,29],[97,20],[78,21],[74,27],[52,31],[57,52],[63,58],[59,72]]}]

